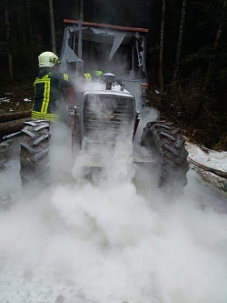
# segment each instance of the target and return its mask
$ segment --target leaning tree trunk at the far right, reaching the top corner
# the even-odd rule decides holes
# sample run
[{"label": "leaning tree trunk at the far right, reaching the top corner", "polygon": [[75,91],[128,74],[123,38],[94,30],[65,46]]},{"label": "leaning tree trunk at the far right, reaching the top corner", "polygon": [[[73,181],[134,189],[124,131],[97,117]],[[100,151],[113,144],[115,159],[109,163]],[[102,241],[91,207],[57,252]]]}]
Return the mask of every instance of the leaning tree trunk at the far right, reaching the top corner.
[{"label": "leaning tree trunk at the far right, reaching the top corner", "polygon": [[214,60],[215,60],[215,56],[217,55],[219,41],[220,41],[220,37],[222,35],[222,29],[223,29],[223,25],[224,25],[224,18],[225,18],[225,15],[226,15],[226,8],[227,8],[226,1],[227,0],[224,0],[224,2],[223,2],[222,15],[221,15],[220,20],[219,20],[219,27],[218,27],[218,30],[217,30],[217,33],[216,33],[216,37],[215,37],[213,46],[212,46],[212,57],[211,57],[211,60],[209,62],[209,66],[207,68],[207,73],[206,73],[205,80],[204,80],[203,87],[202,87],[202,90],[204,92],[207,90],[207,87],[209,86],[209,83],[210,83],[210,78],[211,78],[211,75],[212,75]]}]

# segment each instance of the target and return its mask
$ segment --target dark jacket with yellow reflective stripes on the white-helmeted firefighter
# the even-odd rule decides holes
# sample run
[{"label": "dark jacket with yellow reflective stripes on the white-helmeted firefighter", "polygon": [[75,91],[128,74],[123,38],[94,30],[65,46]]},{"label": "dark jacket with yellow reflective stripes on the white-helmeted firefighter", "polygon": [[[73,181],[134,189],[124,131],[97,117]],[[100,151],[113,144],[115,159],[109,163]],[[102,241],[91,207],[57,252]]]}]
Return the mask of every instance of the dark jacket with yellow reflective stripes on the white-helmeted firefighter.
[{"label": "dark jacket with yellow reflective stripes on the white-helmeted firefighter", "polygon": [[58,103],[63,101],[65,89],[73,85],[67,74],[57,73],[48,67],[41,67],[35,79],[35,99],[32,117],[35,119],[58,120]]}]

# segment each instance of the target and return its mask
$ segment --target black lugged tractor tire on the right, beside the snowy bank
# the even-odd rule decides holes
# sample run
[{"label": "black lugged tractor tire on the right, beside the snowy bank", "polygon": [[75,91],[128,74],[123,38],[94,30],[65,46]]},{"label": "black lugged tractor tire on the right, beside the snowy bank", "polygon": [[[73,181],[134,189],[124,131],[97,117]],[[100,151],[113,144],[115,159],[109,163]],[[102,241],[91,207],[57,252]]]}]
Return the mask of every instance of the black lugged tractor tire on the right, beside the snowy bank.
[{"label": "black lugged tractor tire on the right, beside the snowy bank", "polygon": [[172,196],[183,194],[187,185],[188,152],[179,128],[166,121],[150,122],[143,128],[141,146],[159,162],[158,187]]}]

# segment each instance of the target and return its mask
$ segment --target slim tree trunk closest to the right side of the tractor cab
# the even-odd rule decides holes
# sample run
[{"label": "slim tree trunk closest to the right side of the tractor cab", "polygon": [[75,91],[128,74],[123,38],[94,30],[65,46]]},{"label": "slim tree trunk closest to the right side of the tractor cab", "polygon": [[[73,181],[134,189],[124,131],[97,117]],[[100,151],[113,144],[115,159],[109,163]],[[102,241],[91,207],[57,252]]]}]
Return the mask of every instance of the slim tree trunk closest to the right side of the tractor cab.
[{"label": "slim tree trunk closest to the right side of the tractor cab", "polygon": [[160,35],[160,54],[159,54],[159,85],[161,93],[161,102],[163,105],[163,41],[164,41],[164,16],[165,16],[165,0],[163,0],[161,35]]}]

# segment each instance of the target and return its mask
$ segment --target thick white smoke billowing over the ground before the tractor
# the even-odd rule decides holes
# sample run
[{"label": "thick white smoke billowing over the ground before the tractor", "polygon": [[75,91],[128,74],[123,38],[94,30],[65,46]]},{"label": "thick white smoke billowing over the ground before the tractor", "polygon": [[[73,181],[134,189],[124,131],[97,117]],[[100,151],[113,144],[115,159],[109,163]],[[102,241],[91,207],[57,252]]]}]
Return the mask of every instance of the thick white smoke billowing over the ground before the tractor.
[{"label": "thick white smoke billowing over the ground before the tractor", "polygon": [[[71,165],[70,136],[57,128],[51,153],[61,174]],[[184,197],[163,199],[152,172],[133,178],[129,142],[99,151],[109,167],[98,182],[55,182],[1,211],[0,302],[226,302],[222,197],[190,171]]]}]

